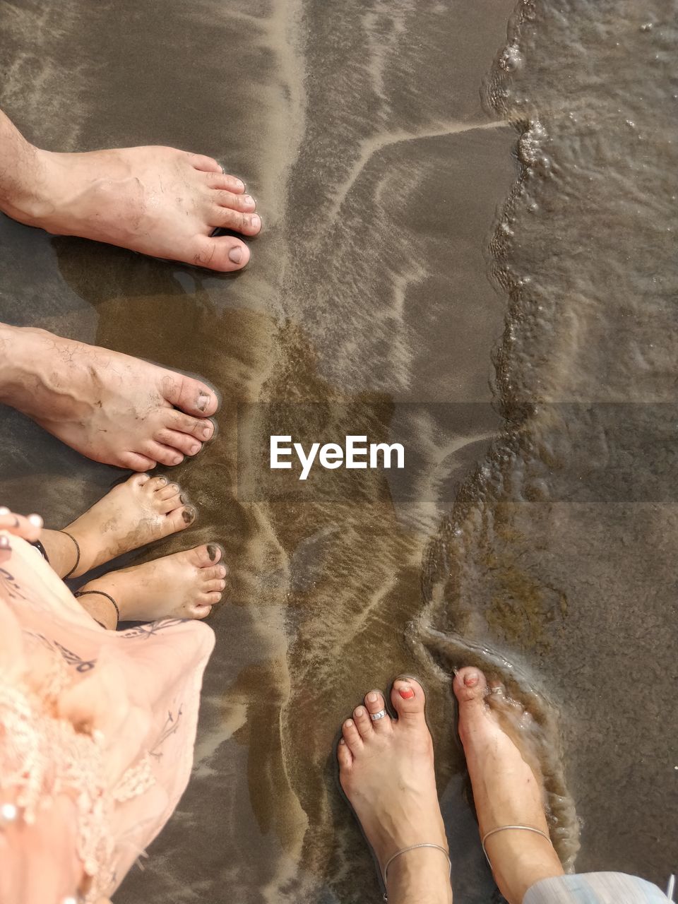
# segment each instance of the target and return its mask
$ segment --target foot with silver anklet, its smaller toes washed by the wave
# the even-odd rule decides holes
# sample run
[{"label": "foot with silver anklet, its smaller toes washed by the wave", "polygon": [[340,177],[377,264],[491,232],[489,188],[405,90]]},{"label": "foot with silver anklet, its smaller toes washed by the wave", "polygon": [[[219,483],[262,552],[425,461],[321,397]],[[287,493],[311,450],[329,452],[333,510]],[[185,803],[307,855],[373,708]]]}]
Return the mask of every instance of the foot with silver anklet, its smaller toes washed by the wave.
[{"label": "foot with silver anklet, its smaller toes washed by the wave", "polygon": [[[513,741],[529,730],[529,715],[501,683],[489,688],[476,668],[461,669],[453,687],[481,838],[503,825],[529,825],[548,836],[541,778]],[[524,829],[491,835],[485,850],[509,904],[520,904],[534,882],[563,873],[551,842]]]}]

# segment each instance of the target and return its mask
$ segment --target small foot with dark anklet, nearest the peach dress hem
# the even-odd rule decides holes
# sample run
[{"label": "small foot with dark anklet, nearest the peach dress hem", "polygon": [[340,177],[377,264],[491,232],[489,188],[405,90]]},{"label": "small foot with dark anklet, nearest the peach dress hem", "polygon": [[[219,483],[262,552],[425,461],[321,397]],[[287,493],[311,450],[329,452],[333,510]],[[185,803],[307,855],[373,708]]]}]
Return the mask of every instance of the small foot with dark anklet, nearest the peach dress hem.
[{"label": "small foot with dark anklet, nearest the peach dress hem", "polygon": [[105,627],[117,624],[108,597],[116,601],[120,621],[161,618],[204,618],[221,602],[228,569],[217,543],[175,552],[90,580],[78,591],[78,601]]}]

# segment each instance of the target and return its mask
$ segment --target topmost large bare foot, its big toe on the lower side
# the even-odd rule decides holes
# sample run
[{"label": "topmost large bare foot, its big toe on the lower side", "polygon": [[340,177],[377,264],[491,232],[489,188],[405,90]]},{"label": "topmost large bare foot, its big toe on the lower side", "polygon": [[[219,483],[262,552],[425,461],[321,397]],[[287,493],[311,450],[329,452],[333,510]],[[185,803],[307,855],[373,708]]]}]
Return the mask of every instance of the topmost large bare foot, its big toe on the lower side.
[{"label": "topmost large bare foot, its big toe on the lower side", "polygon": [[233,236],[261,229],[256,203],[212,157],[174,147],[124,147],[53,154],[25,141],[0,113],[7,148],[0,209],[57,235],[78,235],[221,272],[239,270],[250,250]]}]

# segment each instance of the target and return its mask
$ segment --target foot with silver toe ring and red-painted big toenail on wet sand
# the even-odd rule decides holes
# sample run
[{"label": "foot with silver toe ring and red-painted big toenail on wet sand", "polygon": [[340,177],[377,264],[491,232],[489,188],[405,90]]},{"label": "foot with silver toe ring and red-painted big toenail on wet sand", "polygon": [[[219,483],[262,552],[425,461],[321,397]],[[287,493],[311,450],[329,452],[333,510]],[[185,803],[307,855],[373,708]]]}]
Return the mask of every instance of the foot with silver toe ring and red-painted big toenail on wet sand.
[{"label": "foot with silver toe ring and red-painted big toenail on wet sand", "polygon": [[[411,844],[438,844],[447,838],[433,771],[433,742],[424,718],[424,692],[416,681],[399,678],[391,691],[398,713],[373,721],[384,709],[379,691],[365,697],[342,728],[337,758],[339,778],[381,874],[391,856]],[[435,848],[418,848],[397,857],[388,871],[392,904],[408,896],[430,902],[452,899],[449,862]]]}]

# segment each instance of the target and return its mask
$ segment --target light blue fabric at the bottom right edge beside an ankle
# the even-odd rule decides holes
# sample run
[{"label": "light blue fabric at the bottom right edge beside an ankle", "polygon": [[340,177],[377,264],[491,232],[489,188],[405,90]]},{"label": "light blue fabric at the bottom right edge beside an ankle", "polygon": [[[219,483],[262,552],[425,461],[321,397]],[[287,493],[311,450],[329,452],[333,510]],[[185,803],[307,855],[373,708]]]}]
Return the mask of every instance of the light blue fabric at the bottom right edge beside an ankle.
[{"label": "light blue fabric at the bottom right edge beside an ankle", "polygon": [[542,879],[527,891],[523,904],[666,904],[656,885],[624,872],[583,872]]}]

